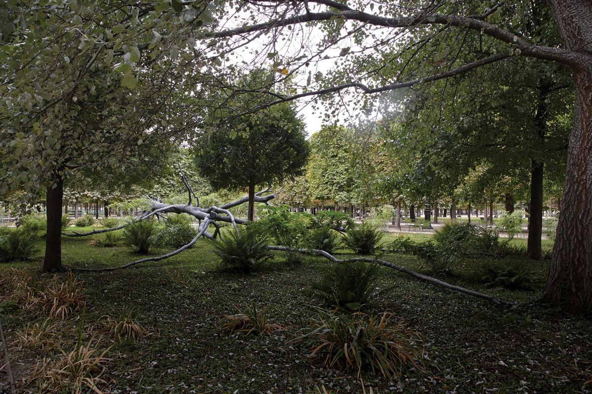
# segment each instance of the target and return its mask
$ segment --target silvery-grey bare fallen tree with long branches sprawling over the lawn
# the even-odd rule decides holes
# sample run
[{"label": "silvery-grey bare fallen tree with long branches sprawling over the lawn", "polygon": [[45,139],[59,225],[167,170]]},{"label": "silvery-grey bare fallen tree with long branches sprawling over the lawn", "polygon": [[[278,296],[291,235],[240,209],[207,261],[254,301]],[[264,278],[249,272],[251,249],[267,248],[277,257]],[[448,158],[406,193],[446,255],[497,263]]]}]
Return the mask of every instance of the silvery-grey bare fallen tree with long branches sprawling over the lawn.
[{"label": "silvery-grey bare fallen tree with long branches sprawling over the lawn", "polygon": [[[130,266],[137,265],[137,264],[140,264],[143,262],[160,261],[160,260],[167,259],[167,258],[175,256],[175,255],[178,255],[183,250],[190,248],[202,236],[204,236],[208,239],[212,239],[212,240],[215,240],[217,237],[221,239],[220,226],[218,225],[217,222],[231,223],[236,232],[239,232],[239,228],[238,228],[237,224],[246,224],[247,223],[247,221],[244,219],[235,218],[229,209],[232,207],[239,206],[240,204],[244,204],[244,203],[248,202],[249,197],[246,196],[246,197],[239,198],[236,201],[231,201],[230,203],[226,203],[220,207],[211,206],[208,208],[202,208],[199,206],[200,205],[199,200],[195,196],[195,194],[193,194],[191,186],[187,182],[185,175],[181,174],[181,178],[182,178],[182,181],[189,193],[188,204],[164,204],[159,201],[154,201],[152,204],[152,208],[149,212],[142,214],[141,216],[137,217],[137,219],[134,219],[134,220],[146,220],[152,216],[155,216],[155,215],[161,214],[161,213],[175,213],[175,214],[186,213],[186,214],[189,214],[189,215],[195,217],[199,222],[199,225],[197,228],[197,235],[194,237],[194,239],[191,240],[191,242],[189,242],[187,245],[182,246],[179,249],[173,250],[172,252],[167,253],[166,255],[162,255],[162,256],[143,258],[143,259],[139,259],[139,260],[136,260],[136,261],[124,264],[124,265],[120,265],[120,266],[114,266],[114,267],[108,267],[108,268],[75,268],[75,269],[72,269],[72,271],[79,271],[79,272],[115,271],[117,269],[128,268]],[[256,193],[255,194],[255,202],[268,204],[268,201],[277,197],[275,193],[271,193],[266,196],[262,196],[262,194],[265,194],[268,191],[271,191],[270,188],[267,188],[265,190],[260,191],[259,193]],[[192,202],[191,196],[195,197],[195,200],[196,200],[195,205],[191,205],[191,202]],[[213,234],[208,232],[208,226],[210,226],[210,224],[213,224],[213,226],[215,227],[215,231]],[[66,236],[70,236],[70,237],[83,237],[83,236],[123,229],[126,226],[127,226],[127,224],[123,224],[121,226],[112,227],[110,229],[93,230],[92,232],[88,232],[88,233],[65,233],[65,232],[63,232],[62,234],[66,235]],[[340,230],[343,230],[343,229],[340,229]],[[400,271],[403,273],[407,273],[408,275],[411,275],[414,278],[420,279],[422,281],[431,282],[433,284],[443,286],[443,287],[445,287],[447,289],[451,289],[453,291],[462,292],[464,294],[468,294],[473,297],[487,299],[489,301],[495,302],[496,304],[517,305],[514,302],[504,301],[503,299],[498,299],[498,298],[493,297],[491,295],[482,294],[477,291],[465,289],[461,286],[451,285],[447,282],[440,281],[439,279],[432,278],[432,276],[423,275],[422,273],[411,271],[410,269],[404,268],[402,266],[399,266],[394,263],[391,263],[391,262],[388,262],[385,260],[381,260],[381,259],[352,258],[352,259],[340,260],[340,259],[337,259],[336,257],[334,257],[333,255],[331,255],[330,253],[324,252],[324,250],[292,249],[292,248],[285,248],[284,246],[272,246],[272,245],[266,246],[266,248],[268,250],[297,252],[297,253],[305,253],[305,254],[313,253],[315,255],[323,256],[324,258],[329,259],[329,261],[332,261],[335,263],[343,263],[345,261],[348,261],[348,262],[356,262],[356,261],[374,262],[374,263],[378,263],[379,265],[382,265],[382,266],[385,266],[388,268],[392,268],[392,269],[396,269],[397,271]]]}]

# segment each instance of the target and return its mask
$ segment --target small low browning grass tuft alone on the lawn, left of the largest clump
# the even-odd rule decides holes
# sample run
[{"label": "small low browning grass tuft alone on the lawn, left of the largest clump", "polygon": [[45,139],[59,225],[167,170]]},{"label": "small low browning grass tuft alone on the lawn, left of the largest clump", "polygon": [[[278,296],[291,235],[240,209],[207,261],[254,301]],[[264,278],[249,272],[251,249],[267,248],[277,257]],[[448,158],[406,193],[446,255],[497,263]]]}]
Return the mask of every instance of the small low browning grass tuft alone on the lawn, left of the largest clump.
[{"label": "small low browning grass tuft alone on the lawn, left of the largest clump", "polygon": [[257,308],[255,304],[245,305],[244,312],[234,305],[237,311],[236,315],[224,315],[226,321],[218,327],[220,330],[230,331],[232,333],[250,334],[272,333],[275,330],[282,330],[284,326],[269,320],[265,309]]}]

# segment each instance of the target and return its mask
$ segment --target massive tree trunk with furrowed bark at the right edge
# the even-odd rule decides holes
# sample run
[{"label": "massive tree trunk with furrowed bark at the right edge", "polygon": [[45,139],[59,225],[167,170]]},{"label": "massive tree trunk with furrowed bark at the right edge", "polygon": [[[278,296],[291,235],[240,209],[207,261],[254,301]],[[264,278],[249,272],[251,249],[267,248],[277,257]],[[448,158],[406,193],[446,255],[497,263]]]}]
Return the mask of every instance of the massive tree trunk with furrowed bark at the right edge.
[{"label": "massive tree trunk with furrowed bark at the right edge", "polygon": [[562,41],[577,56],[574,123],[561,214],[543,299],[568,312],[592,310],[592,4],[549,0]]}]

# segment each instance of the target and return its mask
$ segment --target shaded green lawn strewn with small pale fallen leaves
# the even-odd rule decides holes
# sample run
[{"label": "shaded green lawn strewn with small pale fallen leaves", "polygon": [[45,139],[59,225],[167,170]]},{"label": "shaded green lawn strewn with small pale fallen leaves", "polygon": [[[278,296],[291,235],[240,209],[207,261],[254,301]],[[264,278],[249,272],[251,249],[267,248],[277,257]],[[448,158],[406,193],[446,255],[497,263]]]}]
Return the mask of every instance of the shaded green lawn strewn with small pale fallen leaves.
[{"label": "shaded green lawn strewn with small pale fallen leaves", "polygon": [[[82,230],[83,229],[77,229]],[[391,235],[392,236],[392,235]],[[413,234],[414,240],[429,237]],[[522,242],[522,240],[516,240]],[[27,262],[5,265],[37,273],[40,252]],[[99,388],[118,393],[579,393],[592,390],[592,319],[571,317],[538,304],[502,307],[482,299],[418,281],[381,268],[378,286],[389,290],[371,307],[391,311],[407,328],[417,331],[423,343],[421,369],[407,368],[391,380],[368,371],[343,373],[308,360],[308,349],[291,343],[307,323],[311,305],[303,289],[320,278],[331,264],[307,256],[301,265],[288,266],[277,255],[261,272],[244,275],[222,272],[212,242],[196,245],[160,262],[146,262],[114,272],[75,273],[84,281],[86,309],[65,320],[54,319],[62,329],[67,352],[77,340],[107,349],[108,385]],[[165,250],[155,250],[159,255]],[[345,250],[341,252],[346,253]],[[67,267],[107,267],[139,258],[127,246],[99,248],[89,237],[63,237],[63,264]],[[340,255],[340,256],[346,256]],[[385,255],[406,268],[423,271],[422,261],[408,255]],[[456,266],[456,276],[442,278],[456,285],[518,302],[540,296],[548,261],[524,259],[535,277],[535,292],[510,291],[472,284],[475,269],[489,259],[468,259]],[[65,279],[67,274],[59,274]],[[8,296],[7,284],[2,297]],[[269,318],[287,329],[272,334],[229,335],[218,327],[235,305],[257,305]],[[152,335],[140,340],[110,341],[102,330],[106,315],[118,318],[132,311],[136,322]],[[27,323],[41,323],[46,315],[31,310],[2,310],[0,315],[10,343]],[[78,339],[77,339],[78,338]],[[110,347],[111,346],[111,347]],[[30,350],[9,346],[11,365],[21,386],[19,392],[37,392],[22,379],[43,357],[59,350]],[[58,391],[56,391],[58,392]]]}]

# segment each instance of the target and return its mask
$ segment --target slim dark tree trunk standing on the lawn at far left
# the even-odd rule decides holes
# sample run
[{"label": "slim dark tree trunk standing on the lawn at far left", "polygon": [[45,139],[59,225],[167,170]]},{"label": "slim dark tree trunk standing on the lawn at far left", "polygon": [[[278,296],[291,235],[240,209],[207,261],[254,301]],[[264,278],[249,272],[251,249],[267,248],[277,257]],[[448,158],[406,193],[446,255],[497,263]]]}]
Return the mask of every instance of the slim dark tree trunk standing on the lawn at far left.
[{"label": "slim dark tree trunk standing on the lawn at far left", "polygon": [[45,258],[43,272],[56,272],[62,269],[62,200],[64,181],[54,174],[53,187],[47,187],[47,235],[45,238]]}]

